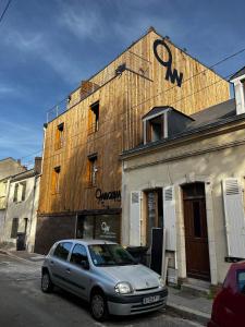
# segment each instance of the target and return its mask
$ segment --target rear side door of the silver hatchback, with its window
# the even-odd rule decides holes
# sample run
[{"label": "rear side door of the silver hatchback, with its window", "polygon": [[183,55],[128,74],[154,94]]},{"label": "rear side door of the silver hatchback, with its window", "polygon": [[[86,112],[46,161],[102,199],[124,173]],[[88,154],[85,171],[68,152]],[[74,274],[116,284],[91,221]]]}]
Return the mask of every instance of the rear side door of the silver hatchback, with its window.
[{"label": "rear side door of the silver hatchback, with its window", "polygon": [[69,262],[68,257],[72,249],[72,242],[58,243],[53,254],[49,259],[49,267],[51,270],[53,282],[64,289],[69,289],[68,275]]}]

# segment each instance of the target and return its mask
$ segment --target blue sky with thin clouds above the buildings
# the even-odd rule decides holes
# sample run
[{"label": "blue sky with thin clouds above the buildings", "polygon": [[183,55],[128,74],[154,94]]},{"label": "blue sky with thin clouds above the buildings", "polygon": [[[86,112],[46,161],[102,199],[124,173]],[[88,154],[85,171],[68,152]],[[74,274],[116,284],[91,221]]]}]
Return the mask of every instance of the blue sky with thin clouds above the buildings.
[{"label": "blue sky with thin clouds above the buildings", "polygon": [[[0,159],[32,165],[47,110],[149,26],[210,66],[245,48],[244,12],[244,0],[12,0],[0,22]],[[244,65],[242,52],[216,71]]]}]

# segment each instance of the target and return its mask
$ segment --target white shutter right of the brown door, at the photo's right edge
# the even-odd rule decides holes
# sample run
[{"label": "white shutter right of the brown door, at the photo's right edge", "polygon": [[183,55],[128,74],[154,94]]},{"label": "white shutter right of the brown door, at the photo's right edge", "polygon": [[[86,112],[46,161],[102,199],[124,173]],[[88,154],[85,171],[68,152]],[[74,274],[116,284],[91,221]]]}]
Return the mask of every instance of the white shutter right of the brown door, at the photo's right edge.
[{"label": "white shutter right of the brown door, at the photo's right edge", "polygon": [[228,255],[245,258],[245,216],[243,192],[238,179],[222,181],[228,240]]}]

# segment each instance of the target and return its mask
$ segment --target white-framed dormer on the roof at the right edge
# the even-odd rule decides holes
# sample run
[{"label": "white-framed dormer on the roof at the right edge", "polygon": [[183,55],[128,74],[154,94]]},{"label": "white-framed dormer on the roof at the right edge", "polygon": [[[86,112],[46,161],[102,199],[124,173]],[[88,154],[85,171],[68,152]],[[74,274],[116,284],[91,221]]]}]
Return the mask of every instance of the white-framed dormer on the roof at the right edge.
[{"label": "white-framed dormer on the roof at the right edge", "polygon": [[230,82],[234,85],[236,114],[245,113],[245,66]]}]

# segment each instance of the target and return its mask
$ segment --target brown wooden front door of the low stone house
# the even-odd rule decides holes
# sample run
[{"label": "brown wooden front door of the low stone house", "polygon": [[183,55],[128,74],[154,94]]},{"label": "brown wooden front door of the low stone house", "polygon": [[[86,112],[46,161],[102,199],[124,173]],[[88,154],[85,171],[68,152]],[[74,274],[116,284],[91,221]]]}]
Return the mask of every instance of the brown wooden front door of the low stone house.
[{"label": "brown wooden front door of the low stone house", "polygon": [[183,186],[187,277],[210,280],[205,184]]}]

